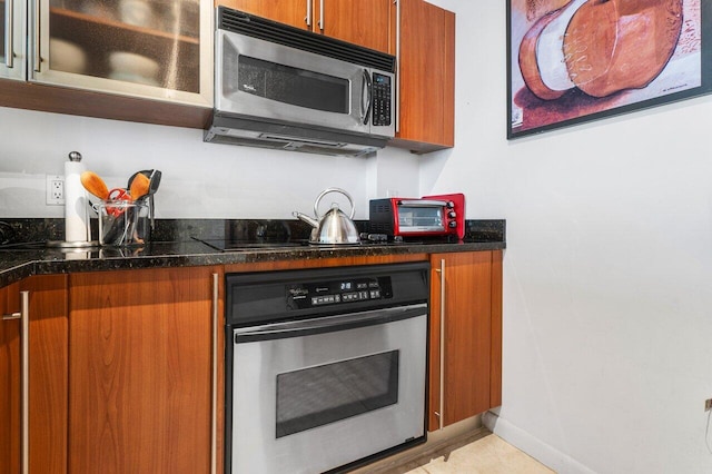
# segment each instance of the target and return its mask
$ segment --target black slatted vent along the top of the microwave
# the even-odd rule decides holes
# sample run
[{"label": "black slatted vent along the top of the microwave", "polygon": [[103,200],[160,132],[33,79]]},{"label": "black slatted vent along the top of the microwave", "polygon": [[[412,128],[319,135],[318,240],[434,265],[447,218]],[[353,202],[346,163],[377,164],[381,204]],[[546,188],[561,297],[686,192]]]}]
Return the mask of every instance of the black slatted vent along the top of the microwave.
[{"label": "black slatted vent along the top of the microwave", "polygon": [[217,14],[218,29],[221,30],[259,38],[342,61],[354,62],[367,68],[395,72],[396,58],[385,52],[300,30],[226,7],[218,7]]}]

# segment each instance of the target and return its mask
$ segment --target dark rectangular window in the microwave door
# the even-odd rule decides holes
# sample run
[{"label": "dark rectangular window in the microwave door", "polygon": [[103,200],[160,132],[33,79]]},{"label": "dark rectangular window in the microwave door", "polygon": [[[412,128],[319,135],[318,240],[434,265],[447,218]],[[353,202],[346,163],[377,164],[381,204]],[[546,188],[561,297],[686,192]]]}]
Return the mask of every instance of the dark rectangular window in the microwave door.
[{"label": "dark rectangular window in the microwave door", "polygon": [[237,87],[243,92],[312,110],[349,112],[347,79],[241,55],[238,65]]}]

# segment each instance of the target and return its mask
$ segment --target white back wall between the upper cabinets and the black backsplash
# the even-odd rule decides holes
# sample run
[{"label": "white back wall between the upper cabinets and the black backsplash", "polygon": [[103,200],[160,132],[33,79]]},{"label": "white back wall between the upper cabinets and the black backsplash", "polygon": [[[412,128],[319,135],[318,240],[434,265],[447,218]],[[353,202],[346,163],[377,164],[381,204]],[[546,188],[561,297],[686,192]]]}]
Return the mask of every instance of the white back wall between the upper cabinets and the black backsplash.
[{"label": "white back wall between the upper cabinets and the black backsplash", "polygon": [[[0,139],[0,218],[63,216],[61,206],[46,205],[46,176],[63,175],[72,150],[109,187],[160,169],[158,218],[293,218],[339,187],[354,198],[355,218],[367,219],[370,198],[393,189],[418,195],[418,158],[399,149],[373,158],[264,150],[205,144],[201,130],[1,107]],[[340,199],[330,195],[320,208],[332,200]]]}]

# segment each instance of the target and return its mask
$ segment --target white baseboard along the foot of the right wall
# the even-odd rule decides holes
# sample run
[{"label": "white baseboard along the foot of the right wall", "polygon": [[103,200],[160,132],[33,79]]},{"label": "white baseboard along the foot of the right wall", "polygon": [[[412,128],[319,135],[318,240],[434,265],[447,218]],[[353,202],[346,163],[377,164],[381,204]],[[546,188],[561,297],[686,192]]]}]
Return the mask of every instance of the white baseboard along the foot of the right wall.
[{"label": "white baseboard along the foot of the right wall", "polygon": [[562,453],[553,446],[532,436],[518,426],[501,418],[496,413],[482,414],[482,423],[492,433],[511,445],[522,450],[546,467],[561,474],[595,474],[594,471]]}]

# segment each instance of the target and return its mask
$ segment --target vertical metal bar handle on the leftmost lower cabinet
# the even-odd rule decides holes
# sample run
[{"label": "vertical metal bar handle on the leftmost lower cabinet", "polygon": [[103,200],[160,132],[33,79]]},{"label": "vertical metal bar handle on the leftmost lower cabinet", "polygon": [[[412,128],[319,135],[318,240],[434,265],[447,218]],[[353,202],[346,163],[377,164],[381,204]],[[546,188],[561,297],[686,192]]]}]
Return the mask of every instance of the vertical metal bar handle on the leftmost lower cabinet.
[{"label": "vertical metal bar handle on the leftmost lower cabinet", "polygon": [[20,313],[2,315],[2,320],[20,319],[20,472],[30,470],[30,292],[20,292]]}]

